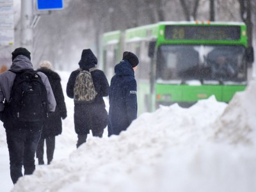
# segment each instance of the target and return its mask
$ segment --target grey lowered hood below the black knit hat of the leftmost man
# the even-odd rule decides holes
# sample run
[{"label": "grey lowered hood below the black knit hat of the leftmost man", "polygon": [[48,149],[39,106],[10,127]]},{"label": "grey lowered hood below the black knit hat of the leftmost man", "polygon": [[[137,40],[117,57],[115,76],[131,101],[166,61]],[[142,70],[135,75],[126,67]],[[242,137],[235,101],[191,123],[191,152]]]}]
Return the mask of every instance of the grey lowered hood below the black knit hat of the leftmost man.
[{"label": "grey lowered hood below the black knit hat of the leftmost man", "polygon": [[31,70],[33,69],[33,65],[29,58],[23,55],[17,56],[13,61],[10,67],[10,70],[13,72],[20,72],[21,70]]}]

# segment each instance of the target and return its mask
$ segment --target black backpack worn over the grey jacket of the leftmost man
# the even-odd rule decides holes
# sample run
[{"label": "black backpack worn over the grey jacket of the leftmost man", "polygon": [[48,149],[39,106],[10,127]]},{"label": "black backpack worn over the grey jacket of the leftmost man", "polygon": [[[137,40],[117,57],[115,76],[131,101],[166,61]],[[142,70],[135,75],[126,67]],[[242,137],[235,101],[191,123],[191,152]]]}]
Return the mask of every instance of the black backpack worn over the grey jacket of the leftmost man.
[{"label": "black backpack worn over the grey jacket of the leftmost man", "polygon": [[47,117],[47,90],[35,70],[15,72],[8,116],[20,122],[38,122]]}]

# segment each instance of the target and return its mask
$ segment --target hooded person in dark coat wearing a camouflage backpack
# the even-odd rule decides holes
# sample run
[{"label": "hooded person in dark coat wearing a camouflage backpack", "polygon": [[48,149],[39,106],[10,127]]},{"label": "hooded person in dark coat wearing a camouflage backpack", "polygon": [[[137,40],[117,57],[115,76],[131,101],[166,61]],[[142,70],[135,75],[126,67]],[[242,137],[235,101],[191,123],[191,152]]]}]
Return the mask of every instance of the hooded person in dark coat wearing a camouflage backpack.
[{"label": "hooded person in dark coat wearing a camouflage backpack", "polygon": [[68,79],[67,95],[74,98],[74,124],[77,133],[77,148],[86,142],[87,134],[102,137],[108,124],[108,112],[102,97],[108,96],[108,80],[96,68],[97,58],[91,49],[84,49],[79,69],[74,70]]}]

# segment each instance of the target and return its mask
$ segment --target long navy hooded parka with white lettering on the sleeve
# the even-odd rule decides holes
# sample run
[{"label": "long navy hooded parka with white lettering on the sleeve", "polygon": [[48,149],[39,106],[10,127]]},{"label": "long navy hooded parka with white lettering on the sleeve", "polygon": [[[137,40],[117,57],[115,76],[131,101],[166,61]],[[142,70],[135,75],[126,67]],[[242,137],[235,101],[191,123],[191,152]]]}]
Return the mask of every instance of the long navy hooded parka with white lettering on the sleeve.
[{"label": "long navy hooded parka with white lettering on the sleeve", "polygon": [[115,66],[109,92],[108,135],[120,134],[137,118],[137,83],[127,60]]}]

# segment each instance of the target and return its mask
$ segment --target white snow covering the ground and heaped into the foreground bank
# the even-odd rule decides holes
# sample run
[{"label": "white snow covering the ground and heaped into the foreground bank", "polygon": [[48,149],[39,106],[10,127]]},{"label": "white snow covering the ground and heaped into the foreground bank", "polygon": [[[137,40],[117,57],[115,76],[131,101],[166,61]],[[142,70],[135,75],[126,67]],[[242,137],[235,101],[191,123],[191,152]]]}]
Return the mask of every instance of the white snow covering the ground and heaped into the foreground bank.
[{"label": "white snow covering the ground and heaped into the foreground bank", "polygon": [[[65,90],[69,73],[60,75]],[[252,81],[228,105],[210,97],[188,109],[162,106],[140,115],[120,136],[108,138],[105,131],[103,138],[90,136],[78,149],[73,101],[67,98],[68,117],[56,138],[54,161],[36,166],[33,175],[19,179],[10,189],[256,191],[255,87]],[[6,150],[3,134],[0,149]],[[8,156],[4,158],[8,162]],[[11,180],[2,172],[0,178]]]}]

